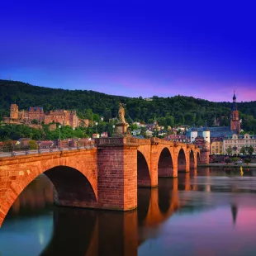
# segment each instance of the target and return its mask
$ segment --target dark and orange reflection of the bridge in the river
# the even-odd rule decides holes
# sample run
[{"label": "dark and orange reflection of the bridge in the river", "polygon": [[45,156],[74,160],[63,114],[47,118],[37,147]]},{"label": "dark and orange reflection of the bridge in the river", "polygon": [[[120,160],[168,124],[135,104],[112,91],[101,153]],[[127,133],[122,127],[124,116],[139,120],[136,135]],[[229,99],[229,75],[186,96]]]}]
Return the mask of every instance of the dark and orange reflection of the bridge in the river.
[{"label": "dark and orange reflection of the bridge in the river", "polygon": [[[52,236],[40,255],[138,255],[139,247],[154,239],[175,211],[192,211],[191,201],[199,202],[198,210],[201,201],[211,194],[208,192],[222,189],[220,183],[207,182],[210,176],[210,168],[200,168],[200,172],[196,169],[174,179],[159,178],[159,187],[138,189],[135,211],[120,212],[53,206],[53,185],[42,175],[14,202],[3,229],[5,222],[12,221],[15,216],[30,218],[29,214],[53,211]],[[233,189],[239,192],[237,184],[230,185],[230,192]],[[200,197],[199,191],[204,192]],[[234,202],[230,205],[234,225],[237,212]]]}]

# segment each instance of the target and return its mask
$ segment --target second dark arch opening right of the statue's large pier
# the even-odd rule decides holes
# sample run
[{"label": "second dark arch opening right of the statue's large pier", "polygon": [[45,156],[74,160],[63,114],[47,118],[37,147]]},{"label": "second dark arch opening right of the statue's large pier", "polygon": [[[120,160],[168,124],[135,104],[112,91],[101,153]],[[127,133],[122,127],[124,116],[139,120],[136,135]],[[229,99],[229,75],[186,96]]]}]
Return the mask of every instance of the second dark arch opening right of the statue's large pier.
[{"label": "second dark arch opening right of the statue's large pier", "polygon": [[158,162],[159,177],[173,177],[173,157],[168,148],[162,149]]}]

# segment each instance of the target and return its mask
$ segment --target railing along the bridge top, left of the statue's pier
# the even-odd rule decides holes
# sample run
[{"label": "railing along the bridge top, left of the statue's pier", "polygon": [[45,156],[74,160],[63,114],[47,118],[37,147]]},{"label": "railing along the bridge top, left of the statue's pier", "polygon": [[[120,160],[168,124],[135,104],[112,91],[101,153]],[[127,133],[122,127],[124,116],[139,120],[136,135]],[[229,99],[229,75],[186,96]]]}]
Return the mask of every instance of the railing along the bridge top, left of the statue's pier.
[{"label": "railing along the bridge top, left of the statue's pier", "polygon": [[94,147],[94,140],[86,142],[78,141],[73,144],[70,144],[68,141],[61,141],[59,145],[2,145],[0,147],[0,157],[42,154],[73,149],[92,149]]}]

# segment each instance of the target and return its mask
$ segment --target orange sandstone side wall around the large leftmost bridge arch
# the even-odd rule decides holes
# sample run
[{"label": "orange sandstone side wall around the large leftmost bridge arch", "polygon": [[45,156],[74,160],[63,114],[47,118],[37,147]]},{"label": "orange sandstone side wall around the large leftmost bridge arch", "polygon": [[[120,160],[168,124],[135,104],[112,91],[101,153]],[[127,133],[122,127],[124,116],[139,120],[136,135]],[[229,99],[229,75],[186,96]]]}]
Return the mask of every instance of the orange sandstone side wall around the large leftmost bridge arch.
[{"label": "orange sandstone side wall around the large leftmost bridge arch", "polygon": [[[97,149],[79,149],[2,158],[0,159],[0,187],[5,187],[5,194],[3,195],[2,190],[0,191],[0,212],[6,215],[17,196],[40,173],[61,165],[75,168],[83,173],[88,178],[97,197]],[[0,217],[1,224],[2,215]]]}]

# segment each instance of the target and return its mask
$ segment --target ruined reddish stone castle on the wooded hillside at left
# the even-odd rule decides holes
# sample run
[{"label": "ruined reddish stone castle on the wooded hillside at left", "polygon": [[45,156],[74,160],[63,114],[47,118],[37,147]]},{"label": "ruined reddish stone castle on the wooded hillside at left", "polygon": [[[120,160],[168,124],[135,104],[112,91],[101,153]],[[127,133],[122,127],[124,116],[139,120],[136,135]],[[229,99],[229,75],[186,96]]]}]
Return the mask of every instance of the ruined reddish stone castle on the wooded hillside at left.
[{"label": "ruined reddish stone castle on the wooded hillside at left", "polygon": [[24,124],[30,125],[33,121],[39,124],[45,123],[60,123],[62,126],[88,126],[88,119],[79,119],[75,110],[54,110],[45,113],[43,107],[30,107],[28,111],[21,110],[17,104],[12,104],[10,107],[10,117],[4,117],[3,121],[7,124]]}]

